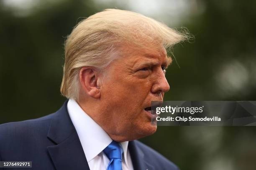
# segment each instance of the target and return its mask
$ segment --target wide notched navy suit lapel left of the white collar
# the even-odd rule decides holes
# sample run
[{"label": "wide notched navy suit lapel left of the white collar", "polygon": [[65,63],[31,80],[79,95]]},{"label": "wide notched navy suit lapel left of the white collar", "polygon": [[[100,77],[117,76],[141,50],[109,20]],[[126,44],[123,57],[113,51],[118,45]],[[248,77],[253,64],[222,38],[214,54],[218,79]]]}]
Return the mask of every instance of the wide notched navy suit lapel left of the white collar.
[{"label": "wide notched navy suit lapel left of the white collar", "polygon": [[90,170],[67,112],[67,101],[54,114],[47,137],[56,145],[48,146],[47,150],[56,170]]}]

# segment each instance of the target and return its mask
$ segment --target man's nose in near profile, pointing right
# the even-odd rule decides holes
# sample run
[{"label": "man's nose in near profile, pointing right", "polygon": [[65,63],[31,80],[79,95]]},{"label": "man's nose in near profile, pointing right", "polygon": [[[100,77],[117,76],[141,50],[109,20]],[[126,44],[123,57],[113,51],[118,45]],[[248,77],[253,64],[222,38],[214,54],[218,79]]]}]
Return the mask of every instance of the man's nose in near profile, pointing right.
[{"label": "man's nose in near profile, pointing right", "polygon": [[155,76],[154,84],[152,85],[152,93],[163,93],[170,90],[169,83],[166,80],[164,71],[160,68]]}]

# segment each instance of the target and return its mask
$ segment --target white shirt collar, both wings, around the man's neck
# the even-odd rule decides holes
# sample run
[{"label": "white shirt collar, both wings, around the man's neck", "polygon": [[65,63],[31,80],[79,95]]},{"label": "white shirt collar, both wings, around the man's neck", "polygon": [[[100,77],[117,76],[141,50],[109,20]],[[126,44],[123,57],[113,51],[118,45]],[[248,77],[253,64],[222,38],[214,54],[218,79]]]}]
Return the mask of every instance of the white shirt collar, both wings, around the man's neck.
[{"label": "white shirt collar, both wings, around the man's neck", "polygon": [[[67,110],[77,131],[88,162],[102,152],[113,140],[89,115],[82,110],[75,100],[69,99]],[[123,148],[125,164],[127,163],[128,141],[120,143]]]}]

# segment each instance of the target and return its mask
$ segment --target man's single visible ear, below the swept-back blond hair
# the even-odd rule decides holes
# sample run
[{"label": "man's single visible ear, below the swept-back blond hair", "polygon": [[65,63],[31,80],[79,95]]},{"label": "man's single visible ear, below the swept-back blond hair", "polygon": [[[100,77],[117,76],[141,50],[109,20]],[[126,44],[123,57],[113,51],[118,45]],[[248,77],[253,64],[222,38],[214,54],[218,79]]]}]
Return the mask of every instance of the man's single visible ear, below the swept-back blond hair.
[{"label": "man's single visible ear, below the swept-back blond hair", "polygon": [[100,80],[94,68],[82,67],[79,80],[84,93],[93,98],[100,98]]}]

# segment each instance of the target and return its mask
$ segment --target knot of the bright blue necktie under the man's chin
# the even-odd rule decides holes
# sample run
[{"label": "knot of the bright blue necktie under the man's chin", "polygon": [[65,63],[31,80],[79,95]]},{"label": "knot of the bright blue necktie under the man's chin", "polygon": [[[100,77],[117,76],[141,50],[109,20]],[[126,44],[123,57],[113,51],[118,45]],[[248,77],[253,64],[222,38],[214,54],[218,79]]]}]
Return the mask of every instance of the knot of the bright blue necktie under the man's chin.
[{"label": "knot of the bright blue necktie under the man's chin", "polygon": [[109,160],[115,158],[122,160],[123,149],[114,140],[103,150],[103,152],[107,155]]}]

